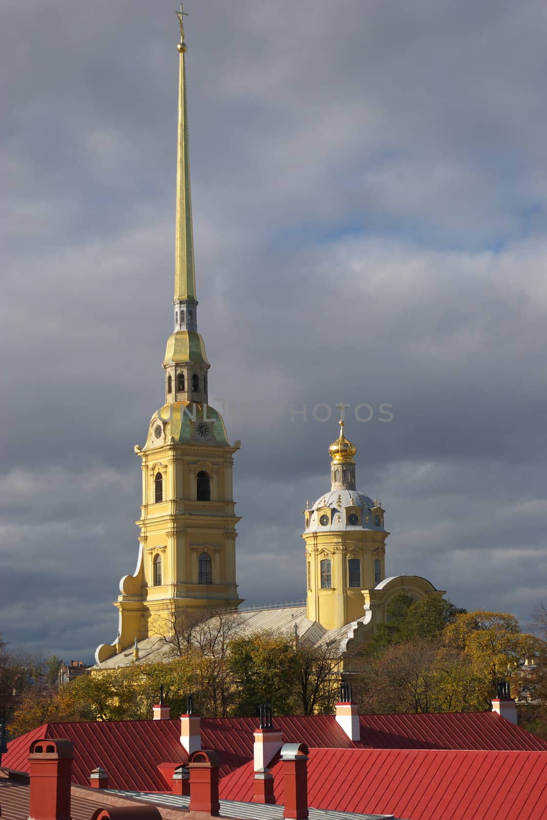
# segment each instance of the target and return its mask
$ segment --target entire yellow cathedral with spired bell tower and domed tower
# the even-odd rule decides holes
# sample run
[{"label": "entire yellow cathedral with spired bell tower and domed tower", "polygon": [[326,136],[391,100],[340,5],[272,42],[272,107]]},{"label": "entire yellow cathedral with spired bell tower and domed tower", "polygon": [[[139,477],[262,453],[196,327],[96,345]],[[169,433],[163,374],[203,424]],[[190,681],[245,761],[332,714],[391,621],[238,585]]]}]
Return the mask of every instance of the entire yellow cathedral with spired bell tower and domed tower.
[{"label": "entire yellow cathedral with spired bell tower and domed tower", "polygon": [[197,330],[197,289],[188,152],[183,12],[177,12],[179,124],[176,181],[173,332],[165,348],[164,397],[151,417],[141,459],[142,505],[137,567],[120,581],[118,634],[97,648],[99,667],[165,653],[165,629],[188,609],[238,612],[242,631],[274,630],[312,644],[335,642],[342,658],[359,652],[386,620],[391,598],[444,594],[419,576],[385,573],[382,504],[359,492],[356,447],[345,423],[328,448],[328,490],[304,511],[301,553],[306,605],[238,610],[233,455],[224,420],[208,403],[210,364]]}]

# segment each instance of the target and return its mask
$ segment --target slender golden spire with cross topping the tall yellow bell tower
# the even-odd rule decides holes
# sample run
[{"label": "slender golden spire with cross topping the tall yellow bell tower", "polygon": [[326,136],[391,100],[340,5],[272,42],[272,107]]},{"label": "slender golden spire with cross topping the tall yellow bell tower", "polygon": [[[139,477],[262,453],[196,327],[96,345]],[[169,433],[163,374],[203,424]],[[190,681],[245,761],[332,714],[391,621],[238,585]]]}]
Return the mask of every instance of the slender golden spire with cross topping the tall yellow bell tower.
[{"label": "slender golden spire with cross topping the tall yellow bell tower", "polygon": [[184,42],[183,4],[179,17],[180,53],[179,70],[179,139],[177,143],[177,224],[174,243],[174,302],[187,299],[196,302],[196,275],[194,272],[194,239],[192,231],[192,195],[190,193],[190,162],[188,153],[188,114],[186,103],[187,45]]}]

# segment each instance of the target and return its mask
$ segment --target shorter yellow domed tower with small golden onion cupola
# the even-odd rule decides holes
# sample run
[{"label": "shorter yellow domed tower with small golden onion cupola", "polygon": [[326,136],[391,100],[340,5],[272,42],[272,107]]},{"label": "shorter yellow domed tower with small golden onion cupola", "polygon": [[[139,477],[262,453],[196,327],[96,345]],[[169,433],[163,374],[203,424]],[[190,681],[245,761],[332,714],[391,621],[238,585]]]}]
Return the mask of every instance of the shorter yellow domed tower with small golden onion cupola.
[{"label": "shorter yellow domed tower with small golden onion cupola", "polygon": [[[341,405],[343,413],[343,405]],[[328,448],[331,489],[304,511],[307,615],[326,629],[364,616],[372,590],[385,579],[389,533],[377,499],[355,487],[357,448],[340,435]]]}]

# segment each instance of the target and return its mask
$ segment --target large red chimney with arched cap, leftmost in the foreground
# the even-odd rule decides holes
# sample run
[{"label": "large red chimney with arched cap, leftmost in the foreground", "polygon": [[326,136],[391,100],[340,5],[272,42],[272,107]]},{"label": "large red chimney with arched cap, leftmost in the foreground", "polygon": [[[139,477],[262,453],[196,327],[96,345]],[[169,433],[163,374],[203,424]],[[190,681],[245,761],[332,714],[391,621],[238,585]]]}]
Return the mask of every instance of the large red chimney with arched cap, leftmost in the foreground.
[{"label": "large red chimney with arched cap, leftmost in the foreground", "polygon": [[29,820],[70,820],[70,740],[34,740],[30,745]]}]

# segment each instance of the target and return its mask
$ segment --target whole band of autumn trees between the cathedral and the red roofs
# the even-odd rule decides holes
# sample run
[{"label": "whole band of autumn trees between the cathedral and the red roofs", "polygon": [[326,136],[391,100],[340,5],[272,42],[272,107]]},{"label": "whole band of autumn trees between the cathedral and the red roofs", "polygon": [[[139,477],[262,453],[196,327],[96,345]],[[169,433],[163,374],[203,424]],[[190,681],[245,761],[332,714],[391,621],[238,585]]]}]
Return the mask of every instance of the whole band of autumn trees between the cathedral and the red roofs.
[{"label": "whole band of autumn trees between the cathedral and the red roofs", "polygon": [[[513,694],[528,690],[534,703],[523,719],[547,735],[542,612],[545,635],[536,638],[508,613],[466,613],[433,594],[413,601],[400,593],[372,651],[351,659],[354,695],[372,713],[483,710],[490,708],[493,681],[506,678]],[[341,672],[337,645],[309,646],[268,632],[238,636],[232,613],[210,612],[185,617],[165,640],[174,654],[169,663],[93,671],[57,692],[58,658],[8,654],[0,639],[0,708],[11,733],[51,721],[149,718],[160,686],[174,716],[186,710],[189,692],[205,717],[256,715],[267,700],[278,715],[332,713]],[[523,661],[532,657],[536,669],[524,676]]]}]

